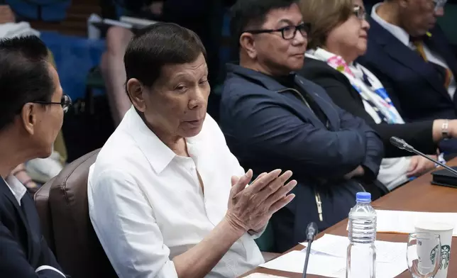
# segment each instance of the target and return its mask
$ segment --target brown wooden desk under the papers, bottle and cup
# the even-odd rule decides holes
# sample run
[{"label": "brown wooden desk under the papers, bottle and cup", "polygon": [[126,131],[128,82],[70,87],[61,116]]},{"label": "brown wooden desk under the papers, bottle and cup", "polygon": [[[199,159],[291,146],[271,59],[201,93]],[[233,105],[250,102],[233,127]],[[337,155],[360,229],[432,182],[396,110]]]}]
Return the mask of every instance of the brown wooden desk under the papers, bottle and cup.
[{"label": "brown wooden desk under the papers, bottle and cup", "polygon": [[[451,160],[448,165],[457,166],[457,159]],[[400,187],[373,202],[373,207],[397,211],[457,212],[457,189],[431,185],[430,182],[431,174],[424,174],[422,177],[405,184],[403,187]],[[343,220],[331,228],[324,230],[324,232],[319,233],[317,238],[320,238],[324,233],[347,236],[347,223],[347,219]],[[407,241],[407,235],[378,233],[377,239],[404,243]],[[452,245],[453,249],[456,250],[457,238],[453,238]],[[302,245],[297,245],[292,250],[302,249]],[[453,254],[454,255],[451,255],[451,262],[449,264],[448,277],[457,277],[457,252],[454,251]],[[404,255],[406,256],[406,250]],[[263,267],[257,267],[253,271],[246,273],[245,276],[253,272],[273,274],[282,277],[302,277],[302,274],[265,269]],[[307,277],[319,276],[308,275]],[[411,274],[409,274],[408,271],[405,271],[398,277],[410,278]]]}]

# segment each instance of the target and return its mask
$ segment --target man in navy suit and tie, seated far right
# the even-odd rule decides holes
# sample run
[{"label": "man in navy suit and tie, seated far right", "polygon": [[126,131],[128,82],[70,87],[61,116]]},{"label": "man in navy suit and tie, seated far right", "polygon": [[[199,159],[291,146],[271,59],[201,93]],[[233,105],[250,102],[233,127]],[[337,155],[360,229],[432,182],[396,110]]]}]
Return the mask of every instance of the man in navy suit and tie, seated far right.
[{"label": "man in navy suit and tie, seated far right", "polygon": [[[392,85],[405,121],[457,118],[457,57],[436,26],[445,3],[385,0],[373,6],[368,50],[358,62]],[[451,141],[441,149],[455,152]]]}]

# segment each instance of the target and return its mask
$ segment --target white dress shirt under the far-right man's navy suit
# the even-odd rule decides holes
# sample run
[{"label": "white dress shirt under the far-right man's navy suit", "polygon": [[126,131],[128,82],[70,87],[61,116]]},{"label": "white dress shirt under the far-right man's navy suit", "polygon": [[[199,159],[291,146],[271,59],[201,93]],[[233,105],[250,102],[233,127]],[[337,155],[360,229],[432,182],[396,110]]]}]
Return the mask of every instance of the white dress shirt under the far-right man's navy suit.
[{"label": "white dress shirt under the far-right man's navy suit", "polygon": [[[411,48],[412,50],[415,50],[415,46],[409,41],[409,34],[407,31],[404,29],[400,28],[399,26],[393,25],[391,23],[388,23],[384,19],[380,18],[378,16],[378,13],[376,13],[376,10],[382,3],[375,4],[373,6],[373,9],[371,10],[371,18],[373,18],[374,21],[376,21],[382,28],[385,28],[385,30],[389,31],[395,38],[400,40],[400,42],[404,45],[406,45],[408,48]],[[433,34],[431,34],[433,35]],[[424,52],[425,56],[427,57],[427,60],[430,62],[433,62],[436,65],[440,65],[441,67],[449,68],[448,64],[446,63],[446,60],[444,60],[443,57],[441,57],[438,53],[432,52],[430,48],[426,46],[426,44],[423,44],[424,47]],[[453,96],[456,92],[457,84],[456,84],[456,78],[454,76],[451,77],[451,82],[449,83],[448,87],[448,93],[449,96],[451,96],[451,99],[453,99]]]}]

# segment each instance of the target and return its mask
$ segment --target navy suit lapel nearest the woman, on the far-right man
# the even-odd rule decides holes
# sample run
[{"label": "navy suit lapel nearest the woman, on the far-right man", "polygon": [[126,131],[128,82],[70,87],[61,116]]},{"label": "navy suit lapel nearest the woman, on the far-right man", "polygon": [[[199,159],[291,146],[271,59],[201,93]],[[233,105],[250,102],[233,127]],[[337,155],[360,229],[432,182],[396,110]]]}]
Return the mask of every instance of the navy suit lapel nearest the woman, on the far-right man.
[{"label": "navy suit lapel nearest the woman, on the far-right man", "polygon": [[394,37],[389,31],[385,30],[376,21],[370,19],[370,25],[372,26],[372,32],[370,35],[377,40],[378,44],[382,45],[387,55],[392,57],[400,64],[408,67],[409,70],[419,74],[425,79],[436,91],[450,99],[448,92],[444,89],[444,86],[440,79],[437,77],[436,70],[432,65],[424,62],[416,52],[408,48],[397,38]]}]

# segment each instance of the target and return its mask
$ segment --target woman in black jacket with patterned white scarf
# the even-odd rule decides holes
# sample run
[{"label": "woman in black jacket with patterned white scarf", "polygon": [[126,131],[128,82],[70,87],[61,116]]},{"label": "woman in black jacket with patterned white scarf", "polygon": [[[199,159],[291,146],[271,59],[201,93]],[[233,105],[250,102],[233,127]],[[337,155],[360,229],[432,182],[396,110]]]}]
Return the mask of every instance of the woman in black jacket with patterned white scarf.
[{"label": "woman in black jacket with patterned white scarf", "polygon": [[418,150],[436,156],[437,143],[444,139],[443,126],[449,136],[457,136],[457,121],[430,120],[406,123],[400,105],[388,82],[381,83],[365,67],[353,63],[366,50],[365,21],[361,0],[302,1],[304,18],[314,26],[309,34],[310,50],[303,77],[326,89],[336,105],[363,118],[381,136],[385,146],[378,179],[389,189],[404,184],[409,177],[434,168],[424,157],[414,156],[390,143],[390,137],[406,140]]}]

